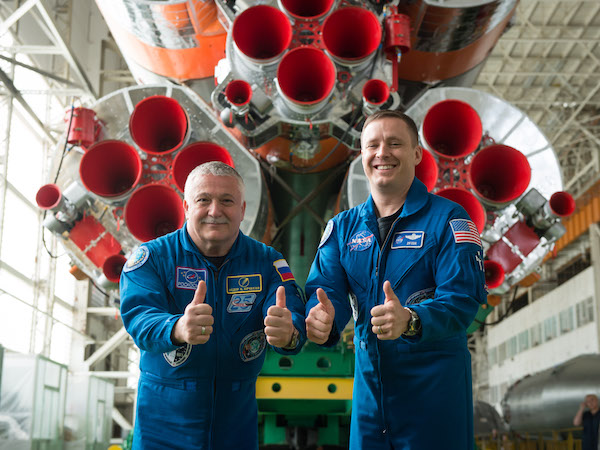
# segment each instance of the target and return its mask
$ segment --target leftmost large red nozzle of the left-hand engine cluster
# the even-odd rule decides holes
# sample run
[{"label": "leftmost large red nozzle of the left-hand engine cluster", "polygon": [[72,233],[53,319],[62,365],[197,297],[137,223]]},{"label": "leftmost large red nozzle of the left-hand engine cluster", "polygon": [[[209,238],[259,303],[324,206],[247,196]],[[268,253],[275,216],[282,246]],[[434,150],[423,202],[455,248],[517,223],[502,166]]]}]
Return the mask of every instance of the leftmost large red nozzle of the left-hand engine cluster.
[{"label": "leftmost large red nozzle of the left-hand engine cluster", "polygon": [[138,184],[142,160],[138,152],[123,141],[100,141],[81,158],[79,176],[88,191],[101,197],[117,197]]}]

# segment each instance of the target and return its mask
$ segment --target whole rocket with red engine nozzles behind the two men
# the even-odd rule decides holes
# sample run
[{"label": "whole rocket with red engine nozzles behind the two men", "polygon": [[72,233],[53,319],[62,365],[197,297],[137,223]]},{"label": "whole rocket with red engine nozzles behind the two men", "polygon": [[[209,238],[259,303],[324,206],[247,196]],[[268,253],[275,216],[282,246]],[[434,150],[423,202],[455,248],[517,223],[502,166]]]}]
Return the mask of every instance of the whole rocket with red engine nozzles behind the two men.
[{"label": "whole rocket with red engine nozzles behind the two men", "polygon": [[[135,248],[182,226],[185,179],[211,160],[243,176],[242,231],[266,243],[284,225],[274,224],[266,180],[281,179],[307,207],[284,222],[304,215],[318,230],[306,245],[311,260],[330,214],[308,200],[324,195],[319,179],[336,168],[347,168],[330,192],[338,209],[367,198],[354,158],[364,119],[378,109],[415,119],[417,177],[471,216],[491,293],[539,267],[565,232],[574,201],[550,143],[517,108],[469,87],[516,0],[97,4],[139,85],[72,110],[56,179],[37,202],[74,265],[115,296]],[[282,250],[307,272],[294,267],[295,250]]]}]

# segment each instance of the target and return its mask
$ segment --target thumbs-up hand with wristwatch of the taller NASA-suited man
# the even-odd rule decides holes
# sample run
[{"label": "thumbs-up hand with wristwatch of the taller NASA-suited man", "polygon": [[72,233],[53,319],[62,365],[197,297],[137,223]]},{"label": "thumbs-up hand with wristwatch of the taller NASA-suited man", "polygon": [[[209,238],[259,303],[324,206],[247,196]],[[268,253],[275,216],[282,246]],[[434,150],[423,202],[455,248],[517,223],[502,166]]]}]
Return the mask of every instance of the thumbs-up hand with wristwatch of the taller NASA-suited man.
[{"label": "thumbs-up hand with wristwatch of the taller NASA-suited man", "polygon": [[398,339],[408,328],[410,313],[400,304],[389,281],[383,283],[385,302],[371,308],[371,325],[378,339]]}]

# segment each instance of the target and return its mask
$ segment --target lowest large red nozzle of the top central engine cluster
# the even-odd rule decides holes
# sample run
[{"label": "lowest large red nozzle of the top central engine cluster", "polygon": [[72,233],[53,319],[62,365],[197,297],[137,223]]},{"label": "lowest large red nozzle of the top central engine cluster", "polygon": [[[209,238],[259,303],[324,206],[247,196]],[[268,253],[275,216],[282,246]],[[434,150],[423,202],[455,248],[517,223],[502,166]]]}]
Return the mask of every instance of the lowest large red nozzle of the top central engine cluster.
[{"label": "lowest large red nozzle of the top central engine cluster", "polygon": [[277,82],[285,99],[302,106],[326,100],[335,85],[335,66],[314,47],[290,50],[279,63]]}]

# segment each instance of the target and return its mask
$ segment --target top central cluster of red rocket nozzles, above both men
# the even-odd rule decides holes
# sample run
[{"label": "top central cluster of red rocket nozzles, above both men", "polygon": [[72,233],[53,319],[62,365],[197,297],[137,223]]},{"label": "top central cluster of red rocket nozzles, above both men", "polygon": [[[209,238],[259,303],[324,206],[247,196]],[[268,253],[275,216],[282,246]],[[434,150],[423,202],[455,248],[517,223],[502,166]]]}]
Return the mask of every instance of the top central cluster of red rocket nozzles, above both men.
[{"label": "top central cluster of red rocket nozzles, above both men", "polygon": [[[293,112],[318,112],[340,77],[368,67],[376,57],[383,35],[377,16],[358,6],[333,10],[334,3],[280,0],[281,9],[253,6],[238,14],[231,26],[236,57],[257,73],[276,67],[276,87]],[[396,64],[397,55],[410,46],[410,20],[393,9],[385,19],[385,29],[383,49]],[[396,86],[392,81],[392,90]],[[224,94],[236,115],[247,113],[252,99],[247,81],[230,81]],[[390,87],[385,81],[370,79],[362,94],[369,113],[385,103]]]}]

